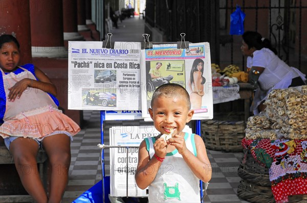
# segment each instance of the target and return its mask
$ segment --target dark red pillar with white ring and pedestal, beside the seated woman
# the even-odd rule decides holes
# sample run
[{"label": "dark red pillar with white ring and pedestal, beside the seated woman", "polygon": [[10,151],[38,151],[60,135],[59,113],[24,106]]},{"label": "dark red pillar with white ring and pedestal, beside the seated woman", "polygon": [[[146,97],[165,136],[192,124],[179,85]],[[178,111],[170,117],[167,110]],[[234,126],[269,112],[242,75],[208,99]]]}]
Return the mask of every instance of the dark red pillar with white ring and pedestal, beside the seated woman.
[{"label": "dark red pillar with white ring and pedestal, beside the seated woman", "polygon": [[[82,111],[67,107],[68,51],[63,37],[63,1],[30,1],[33,63],[45,72],[57,88],[57,98],[65,115],[82,122]],[[71,20],[71,19],[70,19]]]}]

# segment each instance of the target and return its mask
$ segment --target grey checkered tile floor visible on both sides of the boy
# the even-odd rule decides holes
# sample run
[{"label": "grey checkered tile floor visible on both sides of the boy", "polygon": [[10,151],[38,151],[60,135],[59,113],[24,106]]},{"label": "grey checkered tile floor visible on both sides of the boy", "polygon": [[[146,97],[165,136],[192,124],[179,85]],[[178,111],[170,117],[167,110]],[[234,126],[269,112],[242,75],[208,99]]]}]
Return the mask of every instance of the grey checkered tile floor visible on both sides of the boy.
[{"label": "grey checkered tile floor visible on both sides of the boy", "polygon": [[[69,172],[69,183],[62,202],[75,200],[84,191],[101,180],[100,149],[100,111],[83,111],[86,124],[81,132],[74,137],[71,145],[72,162]],[[136,122],[136,121],[134,121]],[[104,143],[108,144],[108,128],[112,124],[105,122]],[[236,195],[240,177],[237,169],[243,153],[224,153],[207,149],[212,166],[212,179],[207,189],[204,202],[247,202]],[[108,152],[105,151],[105,161],[108,162]],[[108,171],[105,171],[108,174]]]}]

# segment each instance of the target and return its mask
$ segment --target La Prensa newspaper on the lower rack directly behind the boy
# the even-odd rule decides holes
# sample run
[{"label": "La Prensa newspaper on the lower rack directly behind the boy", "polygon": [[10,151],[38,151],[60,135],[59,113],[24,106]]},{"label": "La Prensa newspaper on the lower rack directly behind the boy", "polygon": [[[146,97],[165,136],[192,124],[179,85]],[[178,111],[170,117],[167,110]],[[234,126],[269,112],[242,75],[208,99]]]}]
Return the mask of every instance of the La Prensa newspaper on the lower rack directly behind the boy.
[{"label": "La Prensa newspaper on the lower rack directly behind the boy", "polygon": [[[183,132],[192,133],[186,125]],[[128,196],[147,196],[146,189],[141,190],[135,182],[135,172],[138,165],[139,145],[148,137],[160,134],[153,125],[126,125],[114,126],[109,129],[109,140],[112,146],[123,148],[110,148],[110,195],[116,197],[126,196],[128,173]],[[128,148],[126,148],[128,147]],[[128,158],[127,158],[128,151]],[[128,170],[127,170],[128,164]]]}]

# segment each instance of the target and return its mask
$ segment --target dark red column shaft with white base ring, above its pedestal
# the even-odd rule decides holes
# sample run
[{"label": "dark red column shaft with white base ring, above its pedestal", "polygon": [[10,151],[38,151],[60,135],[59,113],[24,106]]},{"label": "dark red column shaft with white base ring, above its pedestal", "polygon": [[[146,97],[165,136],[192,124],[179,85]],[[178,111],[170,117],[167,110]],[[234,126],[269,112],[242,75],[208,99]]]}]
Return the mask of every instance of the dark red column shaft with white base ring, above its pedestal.
[{"label": "dark red column shaft with white base ring, above its pedestal", "polygon": [[32,56],[68,57],[63,40],[62,0],[29,0]]}]

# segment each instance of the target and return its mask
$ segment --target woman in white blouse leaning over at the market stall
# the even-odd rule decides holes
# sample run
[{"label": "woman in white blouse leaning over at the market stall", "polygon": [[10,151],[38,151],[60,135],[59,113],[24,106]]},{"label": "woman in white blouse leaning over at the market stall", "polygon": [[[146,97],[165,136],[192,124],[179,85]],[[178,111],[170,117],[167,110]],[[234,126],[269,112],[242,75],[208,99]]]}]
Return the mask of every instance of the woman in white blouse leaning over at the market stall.
[{"label": "woman in white blouse leaning over at the market stall", "polygon": [[263,104],[273,89],[284,89],[305,85],[305,74],[294,67],[290,67],[277,56],[270,40],[263,38],[259,33],[247,31],[242,35],[241,50],[247,56],[249,74],[258,75],[258,88],[255,92],[251,111],[254,115],[263,111]]}]

